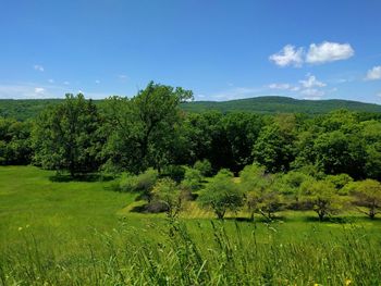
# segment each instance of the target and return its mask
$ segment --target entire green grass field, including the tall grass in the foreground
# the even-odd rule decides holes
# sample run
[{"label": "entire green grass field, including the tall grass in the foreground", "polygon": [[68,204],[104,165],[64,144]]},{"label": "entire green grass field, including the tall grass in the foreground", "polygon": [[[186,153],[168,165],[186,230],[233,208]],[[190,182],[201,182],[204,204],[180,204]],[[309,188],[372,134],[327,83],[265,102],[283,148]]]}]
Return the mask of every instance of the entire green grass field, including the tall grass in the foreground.
[{"label": "entire green grass field, including the tall grass in the foreground", "polygon": [[[380,285],[381,222],[217,222],[190,203],[179,222],[131,212],[113,182],[54,182],[0,167],[1,285]],[[239,213],[244,217],[245,213]]]}]

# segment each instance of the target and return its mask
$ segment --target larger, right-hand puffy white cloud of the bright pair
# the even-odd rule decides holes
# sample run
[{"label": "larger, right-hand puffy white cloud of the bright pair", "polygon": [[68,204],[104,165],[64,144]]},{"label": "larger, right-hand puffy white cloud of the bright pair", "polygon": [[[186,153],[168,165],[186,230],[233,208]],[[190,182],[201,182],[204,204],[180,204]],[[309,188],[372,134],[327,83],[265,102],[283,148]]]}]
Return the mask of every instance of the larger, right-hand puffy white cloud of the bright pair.
[{"label": "larger, right-hand puffy white cloud of the bright pair", "polygon": [[307,63],[327,63],[346,60],[355,54],[349,43],[324,41],[320,45],[311,43],[306,55]]}]

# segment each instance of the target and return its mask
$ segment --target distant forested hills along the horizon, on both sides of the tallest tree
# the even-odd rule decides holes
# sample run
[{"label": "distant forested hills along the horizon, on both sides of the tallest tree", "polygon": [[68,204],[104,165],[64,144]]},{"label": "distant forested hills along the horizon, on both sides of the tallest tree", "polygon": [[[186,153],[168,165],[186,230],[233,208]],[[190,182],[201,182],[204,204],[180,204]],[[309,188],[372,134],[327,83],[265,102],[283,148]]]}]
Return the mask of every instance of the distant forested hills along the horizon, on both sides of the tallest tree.
[{"label": "distant forested hills along the horizon, on both sides of the tallest tree", "polygon": [[[35,117],[48,105],[58,104],[62,99],[0,99],[0,116],[26,120]],[[96,103],[102,100],[95,100]],[[381,113],[381,105],[351,100],[298,100],[287,97],[257,97],[230,101],[194,101],[182,103],[181,108],[188,112],[218,110],[221,112],[245,111],[262,114],[307,113],[323,114],[332,110],[347,109],[358,112]]]}]

